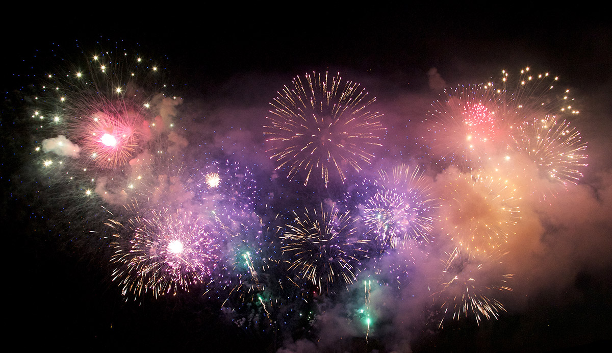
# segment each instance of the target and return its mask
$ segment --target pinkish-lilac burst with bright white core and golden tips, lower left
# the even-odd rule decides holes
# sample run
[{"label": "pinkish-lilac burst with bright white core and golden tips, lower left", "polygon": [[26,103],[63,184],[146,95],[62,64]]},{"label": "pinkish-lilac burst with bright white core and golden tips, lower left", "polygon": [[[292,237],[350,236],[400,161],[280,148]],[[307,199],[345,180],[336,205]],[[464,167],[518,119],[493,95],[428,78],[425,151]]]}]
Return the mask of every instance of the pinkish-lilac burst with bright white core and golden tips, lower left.
[{"label": "pinkish-lilac burst with bright white core and golden tips, lower left", "polygon": [[118,266],[113,280],[119,281],[123,295],[188,291],[206,281],[216,265],[218,246],[190,212],[152,210],[126,225],[116,220],[108,225],[114,229],[111,262]]}]

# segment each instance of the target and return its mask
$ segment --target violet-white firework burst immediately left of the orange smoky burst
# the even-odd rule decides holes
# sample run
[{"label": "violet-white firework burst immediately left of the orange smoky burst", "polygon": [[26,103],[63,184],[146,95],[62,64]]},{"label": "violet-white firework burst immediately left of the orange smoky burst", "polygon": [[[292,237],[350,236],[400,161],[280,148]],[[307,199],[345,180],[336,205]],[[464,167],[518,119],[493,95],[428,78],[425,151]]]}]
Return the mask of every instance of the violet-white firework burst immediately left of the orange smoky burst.
[{"label": "violet-white firework burst immediately left of the orange smoky burst", "polygon": [[381,171],[379,191],[364,205],[365,224],[384,247],[400,240],[428,242],[433,229],[433,211],[438,207],[431,186],[419,168],[400,165],[392,173]]}]

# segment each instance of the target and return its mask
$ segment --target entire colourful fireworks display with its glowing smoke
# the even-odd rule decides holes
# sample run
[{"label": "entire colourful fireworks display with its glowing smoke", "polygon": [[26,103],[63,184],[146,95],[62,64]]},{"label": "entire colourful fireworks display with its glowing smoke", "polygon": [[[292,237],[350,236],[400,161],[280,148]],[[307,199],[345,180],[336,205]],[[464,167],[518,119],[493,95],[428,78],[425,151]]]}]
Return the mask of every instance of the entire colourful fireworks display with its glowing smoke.
[{"label": "entire colourful fireworks display with its glowing smoke", "polygon": [[[493,327],[540,300],[526,288],[545,271],[580,276],[570,232],[609,225],[593,215],[610,198],[607,172],[587,168],[589,113],[549,73],[436,85],[430,71],[428,89],[395,95],[419,81],[324,69],[271,75],[248,99],[211,75],[200,97],[138,51],[77,47],[20,92],[27,163],[7,175],[32,201],[12,212],[39,217],[23,229],[40,243],[103,264],[119,310],[188,308],[206,332],[194,345],[225,330],[266,351],[403,351]],[[573,199],[596,220],[574,221]],[[587,277],[575,286],[599,285]]]}]

